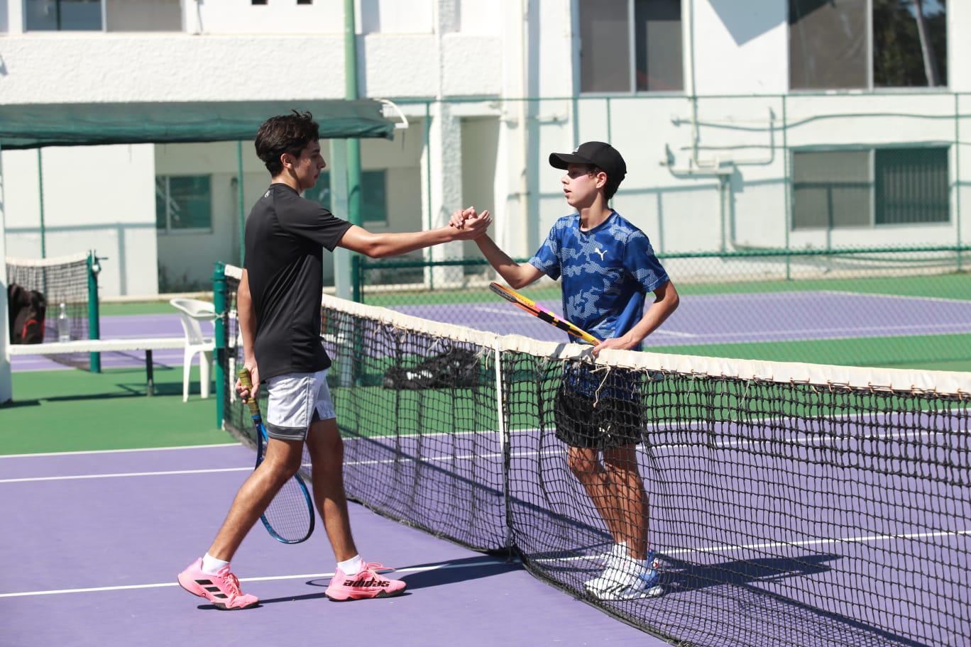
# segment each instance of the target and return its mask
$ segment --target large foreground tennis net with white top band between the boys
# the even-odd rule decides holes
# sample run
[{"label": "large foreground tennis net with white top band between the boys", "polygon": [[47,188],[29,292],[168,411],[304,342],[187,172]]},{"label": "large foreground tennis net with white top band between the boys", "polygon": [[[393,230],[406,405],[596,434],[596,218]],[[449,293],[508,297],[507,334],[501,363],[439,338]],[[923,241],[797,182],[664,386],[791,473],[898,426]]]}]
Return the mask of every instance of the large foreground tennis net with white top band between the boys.
[{"label": "large foreground tennis net with white top band between the boys", "polygon": [[[321,314],[348,493],[388,517],[508,551],[677,644],[971,635],[969,373],[625,351],[593,362],[577,344],[328,296]],[[630,426],[648,505],[636,514],[657,551],[660,597],[607,600],[586,587],[609,562],[619,513],[598,512],[578,479],[589,466],[556,436],[577,422],[578,397],[559,392],[578,380],[593,380],[594,415],[620,400],[640,418]],[[228,381],[225,425],[251,437]]]}]

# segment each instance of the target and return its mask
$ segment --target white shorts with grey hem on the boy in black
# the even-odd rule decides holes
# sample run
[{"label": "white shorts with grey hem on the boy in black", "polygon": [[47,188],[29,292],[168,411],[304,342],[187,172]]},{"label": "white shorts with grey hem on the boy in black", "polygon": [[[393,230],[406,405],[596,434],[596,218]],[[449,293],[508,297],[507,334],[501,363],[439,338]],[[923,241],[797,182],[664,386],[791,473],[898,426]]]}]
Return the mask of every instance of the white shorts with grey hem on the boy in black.
[{"label": "white shorts with grey hem on the boy in black", "polygon": [[281,440],[306,440],[311,423],[336,418],[327,371],[290,372],[266,382],[270,402],[266,433]]}]

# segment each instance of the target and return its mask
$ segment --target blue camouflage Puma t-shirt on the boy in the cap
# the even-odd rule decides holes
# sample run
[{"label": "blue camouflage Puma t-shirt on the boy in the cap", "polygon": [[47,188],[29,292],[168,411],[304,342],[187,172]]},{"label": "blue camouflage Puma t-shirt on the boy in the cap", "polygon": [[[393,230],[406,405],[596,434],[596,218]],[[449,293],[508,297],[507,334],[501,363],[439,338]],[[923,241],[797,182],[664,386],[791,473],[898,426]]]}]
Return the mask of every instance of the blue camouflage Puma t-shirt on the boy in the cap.
[{"label": "blue camouflage Puma t-shirt on the boy in the cap", "polygon": [[559,218],[529,263],[562,275],[563,315],[601,340],[637,325],[647,295],[668,281],[647,235],[617,211],[586,232],[579,213]]}]

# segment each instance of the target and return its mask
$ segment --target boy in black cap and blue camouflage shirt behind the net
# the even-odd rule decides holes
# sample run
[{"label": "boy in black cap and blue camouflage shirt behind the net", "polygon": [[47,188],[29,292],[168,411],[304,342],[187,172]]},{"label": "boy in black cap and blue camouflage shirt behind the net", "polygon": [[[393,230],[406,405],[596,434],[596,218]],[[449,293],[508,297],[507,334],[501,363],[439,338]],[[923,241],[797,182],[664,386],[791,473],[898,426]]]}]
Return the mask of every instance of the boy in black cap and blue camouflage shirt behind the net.
[{"label": "boy in black cap and blue camouflage shirt behind the net", "polygon": [[[605,348],[640,350],[641,341],[678,307],[678,292],[648,237],[608,204],[626,164],[603,142],[552,153],[550,164],[566,171],[560,182],[576,212],[553,224],[529,263],[519,265],[487,235],[475,241],[513,288],[543,275],[562,277],[564,316],[603,340],[594,355]],[[462,227],[466,217],[456,214],[452,226]],[[648,293],[653,303],[645,308]],[[586,590],[607,600],[659,596],[657,563],[648,550],[647,495],[637,467],[643,414],[635,377],[622,370],[606,379],[601,375],[583,364],[569,365],[555,405],[556,437],[569,446],[569,467],[615,541],[603,574],[587,580]]]}]

